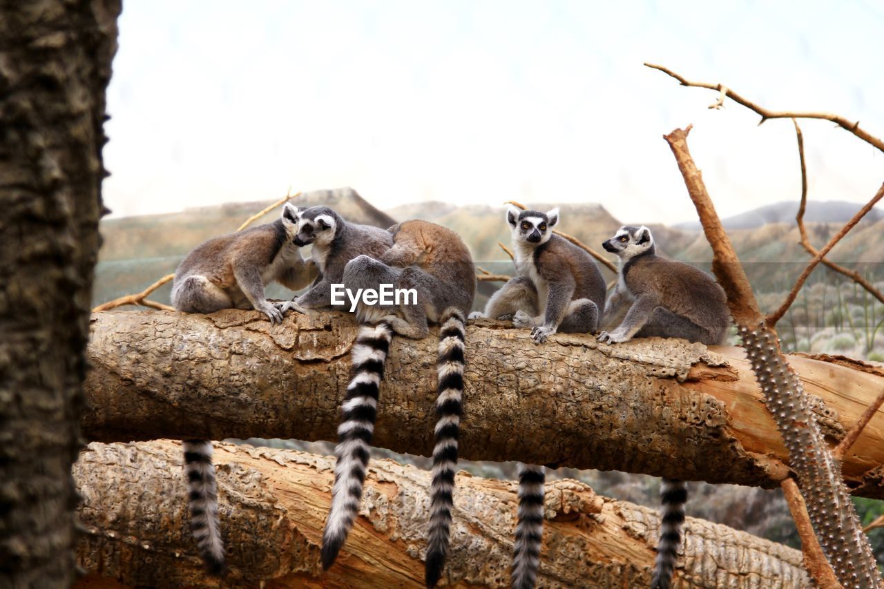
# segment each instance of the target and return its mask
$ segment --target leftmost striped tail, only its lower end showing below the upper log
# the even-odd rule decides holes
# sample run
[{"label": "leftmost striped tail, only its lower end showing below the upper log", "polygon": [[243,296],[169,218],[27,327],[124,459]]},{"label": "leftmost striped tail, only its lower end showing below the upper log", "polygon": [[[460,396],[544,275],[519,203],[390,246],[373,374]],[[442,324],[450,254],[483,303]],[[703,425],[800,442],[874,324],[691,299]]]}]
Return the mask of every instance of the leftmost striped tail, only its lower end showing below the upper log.
[{"label": "leftmost striped tail, only its lower end showing below the upper log", "polygon": [[225,573],[224,541],[218,525],[218,496],[215,467],[212,466],[212,443],[185,440],[184,470],[190,486],[188,505],[190,526],[203,562],[213,575]]}]

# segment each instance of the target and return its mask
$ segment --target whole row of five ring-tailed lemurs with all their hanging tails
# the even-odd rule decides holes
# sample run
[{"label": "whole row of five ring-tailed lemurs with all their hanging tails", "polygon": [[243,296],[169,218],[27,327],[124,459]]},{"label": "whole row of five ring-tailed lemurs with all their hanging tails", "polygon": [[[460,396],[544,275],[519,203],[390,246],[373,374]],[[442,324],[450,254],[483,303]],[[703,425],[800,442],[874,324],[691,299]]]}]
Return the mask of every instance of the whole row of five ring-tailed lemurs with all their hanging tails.
[{"label": "whole row of five ring-tailed lemurs with all their hanging tails", "polygon": [[[560,210],[510,207],[506,222],[513,240],[515,277],[495,292],[484,312],[470,312],[476,295],[476,268],[469,248],[450,229],[411,220],[387,230],[347,222],[325,206],[297,208],[286,203],[281,218],[240,233],[207,241],[180,264],[172,285],[176,310],[212,313],[254,309],[283,324],[289,311],[352,310],[359,329],[351,351],[352,377],[341,405],[331,506],[320,552],[328,569],[354,525],[377,417],[380,385],[395,336],[421,339],[438,325],[435,446],[425,582],[437,585],[445,570],[452,523],[454,474],[463,413],[467,317],[505,321],[530,328],[542,345],[555,333],[598,333],[598,342],[617,344],[634,337],[682,338],[718,344],[728,330],[724,291],[705,272],[655,253],[650,229],[622,226],[604,249],[620,258],[611,295],[593,257],[560,235]],[[305,260],[301,248],[311,246]],[[309,284],[312,275],[316,279]],[[294,291],[292,301],[271,302],[264,287],[278,281]],[[413,293],[395,302],[352,308],[335,301],[334,288],[375,289],[392,285]],[[625,316],[620,315],[625,310]],[[601,331],[604,325],[610,331]],[[279,327],[278,327],[279,328]],[[401,345],[401,344],[398,344]],[[185,471],[194,539],[210,571],[223,574],[225,548],[218,521],[217,484],[211,442],[184,442]],[[520,465],[514,553],[515,589],[536,584],[544,520],[545,468]],[[687,490],[664,479],[657,560],[652,587],[671,586]]]}]

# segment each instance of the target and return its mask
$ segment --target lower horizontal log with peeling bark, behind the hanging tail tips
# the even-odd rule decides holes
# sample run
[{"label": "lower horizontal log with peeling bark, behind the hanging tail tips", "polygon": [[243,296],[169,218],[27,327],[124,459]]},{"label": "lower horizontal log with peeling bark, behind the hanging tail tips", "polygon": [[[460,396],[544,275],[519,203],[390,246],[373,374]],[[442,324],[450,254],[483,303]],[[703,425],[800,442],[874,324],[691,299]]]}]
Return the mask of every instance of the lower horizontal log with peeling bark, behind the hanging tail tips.
[{"label": "lower horizontal log with peeling bark, behind the hanging tail tips", "polygon": [[[211,586],[187,528],[177,442],[90,444],[74,473],[82,586]],[[319,542],[331,501],[333,459],[220,444],[221,518],[231,573],[225,585],[423,586],[430,473],[371,461],[362,512],[338,562],[324,575]],[[504,587],[515,520],[514,483],[457,477],[448,585]],[[560,480],[548,486],[541,587],[647,587],[659,526],[651,509],[597,496]],[[797,550],[688,518],[682,587],[805,587]],[[87,585],[92,583],[94,585]]]}]

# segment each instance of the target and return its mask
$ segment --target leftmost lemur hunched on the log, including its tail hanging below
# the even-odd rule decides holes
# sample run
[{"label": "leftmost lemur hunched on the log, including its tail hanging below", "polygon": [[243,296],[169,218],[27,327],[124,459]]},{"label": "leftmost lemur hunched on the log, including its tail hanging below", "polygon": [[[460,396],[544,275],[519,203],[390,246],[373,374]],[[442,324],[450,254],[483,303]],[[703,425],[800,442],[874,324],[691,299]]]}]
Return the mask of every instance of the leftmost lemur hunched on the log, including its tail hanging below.
[{"label": "leftmost lemur hunched on the log, including its tail hanging below", "polygon": [[[273,223],[216,237],[197,246],[175,272],[171,303],[187,313],[222,309],[260,310],[271,323],[282,314],[264,298],[264,286],[277,280],[298,290],[309,284],[309,264],[293,242],[298,210],[286,203]],[[191,527],[202,559],[214,574],[225,570],[224,542],[217,516],[217,485],[208,440],[184,440]]]}]

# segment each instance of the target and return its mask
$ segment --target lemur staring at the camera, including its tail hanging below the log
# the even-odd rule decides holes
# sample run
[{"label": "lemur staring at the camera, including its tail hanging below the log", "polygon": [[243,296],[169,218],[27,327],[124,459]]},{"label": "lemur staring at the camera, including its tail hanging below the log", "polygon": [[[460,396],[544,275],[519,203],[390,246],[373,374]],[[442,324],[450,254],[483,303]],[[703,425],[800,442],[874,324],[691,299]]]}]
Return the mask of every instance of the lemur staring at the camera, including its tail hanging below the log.
[{"label": "lemur staring at the camera, including its tail hanging below the log", "polygon": [[[606,285],[583,249],[552,233],[559,210],[507,210],[518,276],[492,295],[484,316],[531,327],[543,343],[552,333],[594,333],[605,313]],[[473,313],[470,317],[480,316]],[[520,465],[512,583],[530,589],[537,578],[543,532],[545,469]]]}]

